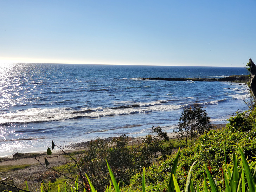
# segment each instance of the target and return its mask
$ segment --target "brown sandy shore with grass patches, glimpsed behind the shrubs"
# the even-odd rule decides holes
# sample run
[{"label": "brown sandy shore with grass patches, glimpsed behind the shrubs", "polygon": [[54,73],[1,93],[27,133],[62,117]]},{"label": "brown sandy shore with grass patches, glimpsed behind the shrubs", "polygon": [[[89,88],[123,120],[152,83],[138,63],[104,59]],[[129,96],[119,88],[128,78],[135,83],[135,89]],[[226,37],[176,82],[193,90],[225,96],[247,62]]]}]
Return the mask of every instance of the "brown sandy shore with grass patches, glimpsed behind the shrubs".
[{"label": "brown sandy shore with grass patches, glimpsed behind the shrubs", "polygon": [[[226,126],[226,124],[212,124],[214,126],[214,130],[221,129]],[[175,139],[176,135],[175,133],[171,132],[168,133],[168,135],[172,139]],[[136,137],[136,138],[131,138],[129,141],[129,145],[136,145],[138,143],[142,143],[142,139],[144,136]],[[108,137],[105,138],[110,142],[114,137]],[[81,143],[76,143],[76,147],[71,150],[66,150],[64,151],[66,153],[69,153],[72,155],[74,158],[79,158],[86,150],[87,150],[87,145],[89,145],[90,141],[87,142],[81,142]],[[83,151],[84,150],[84,151]],[[174,149],[175,152],[175,149]],[[23,156],[26,155],[26,156]],[[21,156],[18,157],[12,157],[12,158],[0,158],[0,178],[6,178],[6,177],[11,177],[15,181],[15,184],[17,186],[24,186],[24,179],[27,179],[27,184],[28,186],[37,187],[40,188],[41,181],[35,180],[35,178],[38,178],[40,175],[45,175],[46,173],[49,174],[52,171],[46,170],[39,162],[35,159],[39,159],[40,157],[40,162],[44,164],[44,158],[47,157],[49,161],[49,167],[56,167],[56,166],[61,166],[66,163],[71,162],[70,158],[63,154],[62,151],[54,149],[52,151],[52,155],[49,156],[46,153],[46,150],[40,153],[25,153],[21,154]],[[23,168],[14,168],[16,166],[20,166]],[[4,170],[5,168],[9,169],[9,171],[1,171]],[[28,178],[24,178],[24,175],[30,175]]]}]

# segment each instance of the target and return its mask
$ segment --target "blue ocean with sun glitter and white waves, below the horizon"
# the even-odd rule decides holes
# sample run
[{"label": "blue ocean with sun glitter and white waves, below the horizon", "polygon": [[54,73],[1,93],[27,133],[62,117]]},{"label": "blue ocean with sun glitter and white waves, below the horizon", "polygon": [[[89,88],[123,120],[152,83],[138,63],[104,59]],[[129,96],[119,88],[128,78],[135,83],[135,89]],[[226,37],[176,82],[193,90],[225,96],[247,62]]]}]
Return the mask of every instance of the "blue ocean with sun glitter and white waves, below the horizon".
[{"label": "blue ocean with sun glitter and white waves, below the horizon", "polygon": [[212,123],[248,109],[244,83],[141,80],[222,78],[245,68],[13,63],[0,65],[0,156],[127,134],[173,132],[197,99]]}]

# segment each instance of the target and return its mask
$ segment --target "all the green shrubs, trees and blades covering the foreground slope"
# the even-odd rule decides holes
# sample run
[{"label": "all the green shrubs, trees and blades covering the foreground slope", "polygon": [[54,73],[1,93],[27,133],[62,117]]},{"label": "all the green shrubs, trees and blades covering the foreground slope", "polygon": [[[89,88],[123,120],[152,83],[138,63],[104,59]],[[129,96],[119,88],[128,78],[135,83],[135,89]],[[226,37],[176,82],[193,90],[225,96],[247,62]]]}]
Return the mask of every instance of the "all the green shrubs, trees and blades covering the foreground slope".
[{"label": "all the green shrubs, trees and blades covering the foreground slope", "polygon": [[[52,141],[43,162],[35,157],[47,169],[38,175],[41,186],[37,191],[255,192],[254,103],[248,103],[248,111],[237,112],[220,129],[212,129],[206,110],[195,103],[182,111],[175,129],[177,139],[153,126],[151,133],[132,144],[125,134],[111,142],[97,138],[86,151],[78,152],[79,156],[66,153]],[[55,148],[71,161],[51,167],[50,155]],[[36,191],[27,180],[17,187],[12,178],[2,178],[0,190]]]}]

